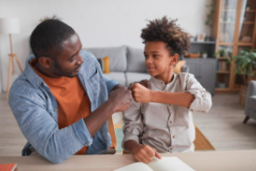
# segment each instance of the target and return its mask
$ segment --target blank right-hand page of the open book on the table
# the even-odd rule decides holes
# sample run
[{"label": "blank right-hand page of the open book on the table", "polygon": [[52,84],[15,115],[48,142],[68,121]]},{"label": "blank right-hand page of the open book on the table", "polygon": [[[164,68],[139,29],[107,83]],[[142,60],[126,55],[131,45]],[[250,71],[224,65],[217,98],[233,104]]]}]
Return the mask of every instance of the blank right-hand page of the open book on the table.
[{"label": "blank right-hand page of the open book on the table", "polygon": [[154,158],[148,165],[153,171],[194,171],[192,167],[183,163],[178,157]]}]

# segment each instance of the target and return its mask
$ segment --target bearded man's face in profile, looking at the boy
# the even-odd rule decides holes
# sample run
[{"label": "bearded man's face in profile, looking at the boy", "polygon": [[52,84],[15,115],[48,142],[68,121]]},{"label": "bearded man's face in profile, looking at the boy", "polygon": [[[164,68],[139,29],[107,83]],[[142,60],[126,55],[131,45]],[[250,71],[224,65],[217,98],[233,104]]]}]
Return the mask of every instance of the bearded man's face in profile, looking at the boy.
[{"label": "bearded man's face in profile, looking at the boy", "polygon": [[74,33],[62,44],[63,52],[54,59],[54,74],[75,77],[78,75],[83,59],[80,56],[82,47],[78,34]]}]

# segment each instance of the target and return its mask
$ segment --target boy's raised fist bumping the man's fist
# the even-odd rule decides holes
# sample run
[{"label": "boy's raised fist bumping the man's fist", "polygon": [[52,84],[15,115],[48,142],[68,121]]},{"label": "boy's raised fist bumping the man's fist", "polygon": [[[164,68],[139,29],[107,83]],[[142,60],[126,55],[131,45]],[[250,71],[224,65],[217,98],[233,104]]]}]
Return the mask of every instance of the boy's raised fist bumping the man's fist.
[{"label": "boy's raised fist bumping the man's fist", "polygon": [[139,103],[149,103],[152,99],[151,90],[143,85],[135,83],[129,87],[132,90],[133,97],[136,102]]}]

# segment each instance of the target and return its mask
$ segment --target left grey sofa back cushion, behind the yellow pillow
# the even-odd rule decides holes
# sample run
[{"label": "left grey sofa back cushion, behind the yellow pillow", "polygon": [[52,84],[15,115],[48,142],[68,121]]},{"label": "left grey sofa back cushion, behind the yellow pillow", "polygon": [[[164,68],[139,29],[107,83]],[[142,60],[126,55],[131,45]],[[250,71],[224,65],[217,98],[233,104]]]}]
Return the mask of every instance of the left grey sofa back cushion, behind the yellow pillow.
[{"label": "left grey sofa back cushion, behind the yellow pillow", "polygon": [[84,50],[91,52],[96,59],[109,57],[110,72],[125,72],[127,69],[126,46],[84,48]]}]

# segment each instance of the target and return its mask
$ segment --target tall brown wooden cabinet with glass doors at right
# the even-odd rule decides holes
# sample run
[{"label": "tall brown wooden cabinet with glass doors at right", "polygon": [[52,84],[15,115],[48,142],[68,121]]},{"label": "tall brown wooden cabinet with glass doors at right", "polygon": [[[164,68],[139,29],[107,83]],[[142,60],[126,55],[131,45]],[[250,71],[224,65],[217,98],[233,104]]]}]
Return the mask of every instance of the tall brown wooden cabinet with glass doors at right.
[{"label": "tall brown wooden cabinet with glass doors at right", "polygon": [[[229,57],[235,57],[242,49],[255,48],[255,0],[216,0],[212,36],[216,37],[216,52],[225,49]],[[219,57],[216,91],[238,91],[235,61]]]}]

